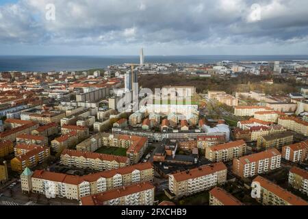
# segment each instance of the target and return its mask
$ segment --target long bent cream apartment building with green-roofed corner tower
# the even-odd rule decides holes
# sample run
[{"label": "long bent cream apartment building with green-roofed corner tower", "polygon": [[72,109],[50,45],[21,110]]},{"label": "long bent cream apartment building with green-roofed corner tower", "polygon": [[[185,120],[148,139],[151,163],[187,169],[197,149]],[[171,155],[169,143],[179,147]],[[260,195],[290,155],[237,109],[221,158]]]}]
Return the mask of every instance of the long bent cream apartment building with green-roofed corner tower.
[{"label": "long bent cream apartment building with green-roofed corner tower", "polygon": [[[26,170],[23,173],[25,172]],[[153,165],[149,162],[82,177],[35,170],[21,175],[21,188],[27,193],[35,192],[50,197],[80,200],[83,196],[114,190],[134,183],[153,181],[153,177]]]}]

